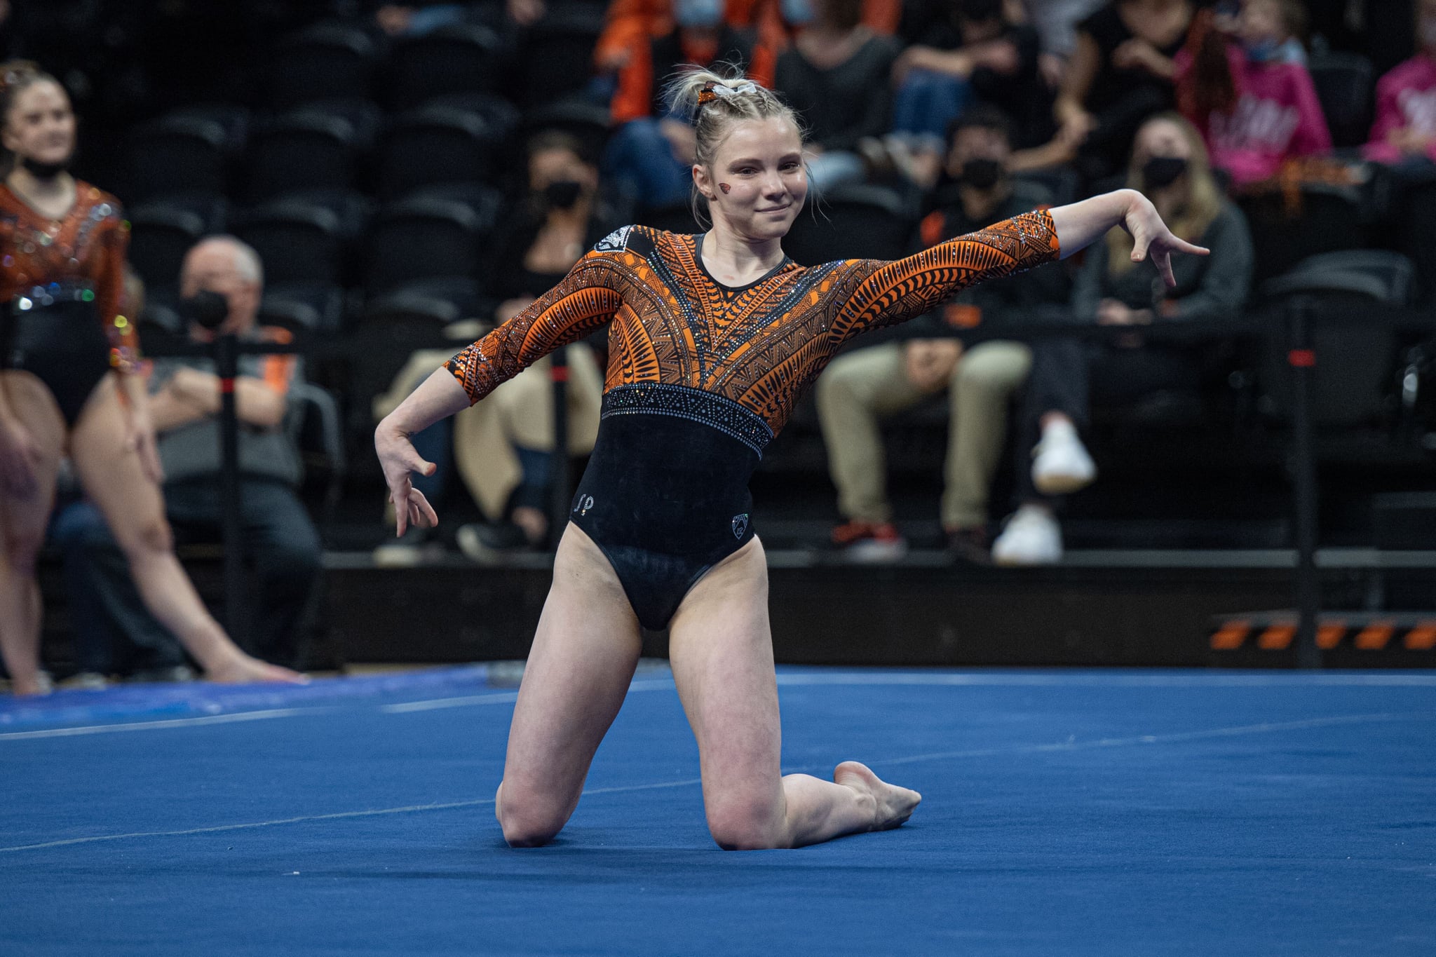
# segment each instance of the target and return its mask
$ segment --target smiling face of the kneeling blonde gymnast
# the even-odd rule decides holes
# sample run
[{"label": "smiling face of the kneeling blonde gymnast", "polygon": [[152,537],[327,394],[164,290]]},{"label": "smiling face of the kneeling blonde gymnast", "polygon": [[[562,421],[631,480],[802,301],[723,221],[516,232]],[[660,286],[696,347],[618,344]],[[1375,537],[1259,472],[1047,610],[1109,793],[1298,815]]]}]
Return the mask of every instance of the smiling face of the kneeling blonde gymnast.
[{"label": "smiling face of the kneeling blonde gymnast", "polygon": [[694,166],[694,182],[708,197],[715,228],[781,240],[807,199],[803,138],[780,116],[735,122],[712,165]]}]

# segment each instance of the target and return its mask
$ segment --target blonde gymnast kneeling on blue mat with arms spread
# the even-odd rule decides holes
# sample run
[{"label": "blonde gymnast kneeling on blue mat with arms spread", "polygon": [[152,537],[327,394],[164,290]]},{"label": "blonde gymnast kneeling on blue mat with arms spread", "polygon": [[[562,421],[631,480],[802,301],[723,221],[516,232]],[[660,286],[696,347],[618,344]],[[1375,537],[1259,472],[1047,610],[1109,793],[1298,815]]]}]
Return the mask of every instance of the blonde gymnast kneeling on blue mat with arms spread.
[{"label": "blonde gymnast kneeling on blue mat with arms spread", "polygon": [[807,197],[791,110],[745,80],[686,73],[694,187],[712,230],[626,227],[530,308],[434,373],[375,435],[398,514],[431,525],[408,436],[478,402],[561,343],[609,327],[597,446],[554,557],[518,690],[495,811],[511,845],[551,839],[639,657],[669,628],[673,680],[698,739],[708,828],[724,848],[788,848],[893,828],[915,791],[857,762],[833,781],[780,770],[767,564],[748,478],[797,396],[853,336],[919,316],[985,278],[1040,265],[1122,225],[1170,283],[1170,254],[1205,250],[1123,189],[1038,211],[895,263],[804,268],[781,240]]}]

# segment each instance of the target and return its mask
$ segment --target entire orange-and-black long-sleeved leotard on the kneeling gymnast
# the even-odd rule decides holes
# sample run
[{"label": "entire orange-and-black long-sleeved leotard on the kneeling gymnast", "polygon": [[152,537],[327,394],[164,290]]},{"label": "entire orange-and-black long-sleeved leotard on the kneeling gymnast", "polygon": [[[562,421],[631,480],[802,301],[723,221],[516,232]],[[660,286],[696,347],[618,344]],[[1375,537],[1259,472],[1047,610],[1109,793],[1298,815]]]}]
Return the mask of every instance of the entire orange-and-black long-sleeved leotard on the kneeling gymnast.
[{"label": "entire orange-and-black long-sleeved leotard on the kneeling gymnast", "polygon": [[646,627],[752,537],[748,479],[806,389],[853,336],[1058,255],[1045,211],[892,263],[784,260],[715,281],[702,237],[625,227],[564,280],[448,363],[471,402],[609,327],[602,423],[573,521],[607,554]]}]

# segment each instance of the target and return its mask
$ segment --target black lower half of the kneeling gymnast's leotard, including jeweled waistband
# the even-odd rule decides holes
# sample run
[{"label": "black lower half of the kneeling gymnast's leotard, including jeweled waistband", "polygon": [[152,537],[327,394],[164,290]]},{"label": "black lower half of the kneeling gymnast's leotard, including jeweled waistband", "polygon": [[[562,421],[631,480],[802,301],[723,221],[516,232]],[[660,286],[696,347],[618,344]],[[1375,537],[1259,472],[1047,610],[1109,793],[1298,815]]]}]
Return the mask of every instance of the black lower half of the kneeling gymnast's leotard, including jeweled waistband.
[{"label": "black lower half of the kneeling gymnast's leotard, including jeweled waistband", "polygon": [[771,438],[757,415],[698,389],[603,396],[570,518],[607,555],[645,628],[668,627],[704,572],[752,538],[748,479]]}]

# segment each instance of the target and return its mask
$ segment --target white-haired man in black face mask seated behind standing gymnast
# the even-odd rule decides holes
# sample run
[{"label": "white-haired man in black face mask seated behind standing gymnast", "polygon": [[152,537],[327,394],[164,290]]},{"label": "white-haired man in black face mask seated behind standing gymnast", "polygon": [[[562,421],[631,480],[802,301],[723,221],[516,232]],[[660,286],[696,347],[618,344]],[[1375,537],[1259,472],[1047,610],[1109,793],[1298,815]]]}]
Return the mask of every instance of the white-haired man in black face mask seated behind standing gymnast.
[{"label": "white-haired man in black face mask seated behind standing gymnast", "polygon": [[[190,339],[211,341],[234,333],[248,341],[286,341],[289,331],[256,326],[263,290],[263,267],[253,248],[234,237],[200,241],[185,255],[180,274],[185,313],[194,314],[204,293],[211,308],[224,308],[224,321],[210,330],[191,321]],[[257,572],[260,594],[248,608],[248,650],[270,660],[293,663],[296,630],[319,575],[319,532],[296,495],[299,451],[283,430],[289,385],[302,374],[297,356],[241,356],[236,380],[240,419],[240,491],[244,550]],[[151,416],[165,469],[165,514],[181,535],[204,539],[220,534],[220,379],[208,357],[158,359],[149,377]],[[85,529],[85,545],[113,548],[103,521]],[[116,631],[135,640],[141,630],[164,631],[139,601],[123,562],[95,562],[93,581],[101,607]],[[116,574],[118,572],[118,574]],[[152,643],[142,643],[152,644]]]}]

